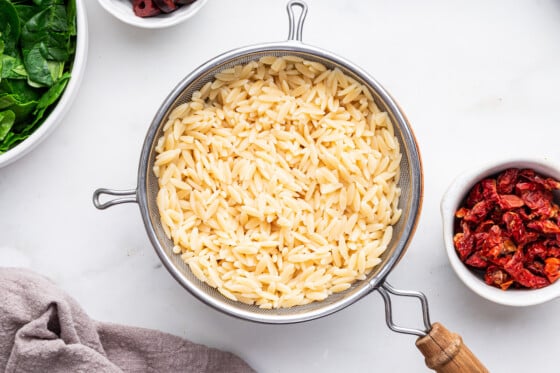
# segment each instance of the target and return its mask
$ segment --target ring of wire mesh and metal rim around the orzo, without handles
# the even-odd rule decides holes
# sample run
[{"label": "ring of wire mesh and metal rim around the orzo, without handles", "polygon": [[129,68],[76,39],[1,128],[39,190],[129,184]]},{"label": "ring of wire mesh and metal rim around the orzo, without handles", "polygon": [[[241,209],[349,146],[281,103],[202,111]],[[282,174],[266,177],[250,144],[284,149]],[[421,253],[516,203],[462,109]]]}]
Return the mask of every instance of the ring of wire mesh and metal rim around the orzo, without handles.
[{"label": "ring of wire mesh and metal rim around the orzo, without handles", "polygon": [[[301,36],[301,33],[299,34]],[[164,233],[156,205],[158,180],[152,172],[155,162],[157,140],[169,114],[177,106],[190,101],[193,92],[214,79],[216,73],[264,56],[297,56],[320,62],[329,69],[338,68],[344,74],[366,86],[380,110],[389,115],[403,155],[400,163],[399,208],[402,215],[393,226],[393,238],[383,253],[382,262],[369,273],[365,280],[357,281],[344,292],[330,295],[327,299],[281,309],[261,309],[227,299],[216,289],[198,280],[180,255],[174,254],[173,243]],[[142,149],[138,170],[137,197],[144,224],[154,248],[169,272],[193,295],[208,305],[242,319],[264,323],[293,323],[326,316],[338,311],[378,288],[385,276],[404,254],[414,232],[422,200],[422,171],[417,144],[402,111],[391,96],[369,74],[356,65],[330,52],[303,44],[300,40],[260,44],[224,53],[200,66],[189,74],[164,101],[148,130]]]}]

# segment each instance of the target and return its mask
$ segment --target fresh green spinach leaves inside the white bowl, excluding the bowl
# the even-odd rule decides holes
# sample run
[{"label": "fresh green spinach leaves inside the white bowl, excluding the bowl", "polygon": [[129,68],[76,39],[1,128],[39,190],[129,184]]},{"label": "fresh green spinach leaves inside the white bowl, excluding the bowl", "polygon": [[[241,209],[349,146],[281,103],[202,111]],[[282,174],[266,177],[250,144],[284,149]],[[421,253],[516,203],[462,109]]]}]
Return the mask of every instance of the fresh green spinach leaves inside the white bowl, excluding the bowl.
[{"label": "fresh green spinach leaves inside the white bowl, excluding the bowl", "polygon": [[0,0],[0,154],[43,123],[75,52],[75,0]]}]

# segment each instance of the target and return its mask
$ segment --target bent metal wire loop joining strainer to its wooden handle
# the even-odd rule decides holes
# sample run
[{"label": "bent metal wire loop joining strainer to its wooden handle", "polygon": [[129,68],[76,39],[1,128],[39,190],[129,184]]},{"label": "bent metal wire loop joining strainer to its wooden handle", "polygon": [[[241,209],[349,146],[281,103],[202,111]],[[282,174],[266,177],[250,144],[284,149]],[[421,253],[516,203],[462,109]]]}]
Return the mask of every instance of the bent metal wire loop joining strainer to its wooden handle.
[{"label": "bent metal wire loop joining strainer to its wooden handle", "polygon": [[[432,323],[430,322],[430,313],[428,309],[428,299],[426,296],[419,292],[419,291],[412,291],[412,290],[398,290],[389,285],[387,282],[383,283],[380,287],[377,288],[377,291],[383,297],[383,301],[385,302],[385,320],[387,321],[387,326],[394,332],[403,333],[403,334],[412,334],[417,335],[419,337],[424,337],[428,335],[429,331],[432,329]],[[418,298],[420,300],[420,304],[422,305],[422,318],[424,321],[424,330],[421,329],[413,329],[413,328],[405,328],[402,326],[398,326],[393,322],[393,310],[391,306],[391,295],[403,296],[403,297],[412,297]]]}]

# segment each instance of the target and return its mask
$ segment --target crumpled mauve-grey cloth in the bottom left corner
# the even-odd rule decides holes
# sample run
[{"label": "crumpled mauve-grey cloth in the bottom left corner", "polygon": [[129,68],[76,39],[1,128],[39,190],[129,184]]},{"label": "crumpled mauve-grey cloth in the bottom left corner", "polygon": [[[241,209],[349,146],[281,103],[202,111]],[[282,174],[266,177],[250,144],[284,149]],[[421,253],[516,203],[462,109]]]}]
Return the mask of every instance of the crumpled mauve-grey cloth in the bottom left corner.
[{"label": "crumpled mauve-grey cloth in the bottom left corner", "polygon": [[253,372],[232,353],[92,320],[53,282],[0,268],[1,372]]}]

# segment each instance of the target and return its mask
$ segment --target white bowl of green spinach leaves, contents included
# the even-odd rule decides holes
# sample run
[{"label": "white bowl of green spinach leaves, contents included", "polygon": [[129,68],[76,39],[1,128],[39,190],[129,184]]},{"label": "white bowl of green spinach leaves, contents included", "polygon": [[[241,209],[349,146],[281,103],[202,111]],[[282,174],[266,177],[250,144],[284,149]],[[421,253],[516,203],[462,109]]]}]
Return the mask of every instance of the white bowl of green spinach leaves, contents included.
[{"label": "white bowl of green spinach leaves, contents included", "polygon": [[0,167],[38,145],[76,95],[87,55],[84,0],[0,0]]}]

